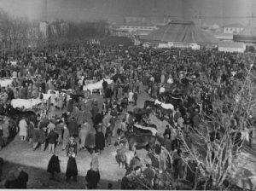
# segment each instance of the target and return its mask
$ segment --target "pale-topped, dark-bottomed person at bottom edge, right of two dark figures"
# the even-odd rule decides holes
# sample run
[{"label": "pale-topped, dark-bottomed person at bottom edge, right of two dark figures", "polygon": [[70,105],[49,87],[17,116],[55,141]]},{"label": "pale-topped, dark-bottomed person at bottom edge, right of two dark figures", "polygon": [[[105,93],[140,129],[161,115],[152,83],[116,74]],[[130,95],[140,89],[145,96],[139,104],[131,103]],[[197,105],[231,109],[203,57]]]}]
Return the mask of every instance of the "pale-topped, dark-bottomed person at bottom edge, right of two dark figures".
[{"label": "pale-topped, dark-bottomed person at bottom edge, right of two dark figures", "polygon": [[85,181],[88,189],[96,189],[98,182],[100,182],[101,175],[98,167],[98,159],[94,154],[90,163],[90,170],[87,171]]}]

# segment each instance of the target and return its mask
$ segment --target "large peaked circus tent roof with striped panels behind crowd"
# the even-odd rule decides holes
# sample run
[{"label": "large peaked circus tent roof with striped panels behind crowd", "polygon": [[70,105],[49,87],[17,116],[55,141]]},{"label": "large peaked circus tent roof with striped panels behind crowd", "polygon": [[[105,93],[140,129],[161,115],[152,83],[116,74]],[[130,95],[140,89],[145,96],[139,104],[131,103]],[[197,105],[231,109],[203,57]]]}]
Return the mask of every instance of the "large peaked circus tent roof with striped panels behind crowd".
[{"label": "large peaked circus tent roof with striped panels behind crowd", "polygon": [[165,43],[218,43],[217,38],[196,27],[193,21],[171,21],[159,30],[142,37],[142,39]]}]

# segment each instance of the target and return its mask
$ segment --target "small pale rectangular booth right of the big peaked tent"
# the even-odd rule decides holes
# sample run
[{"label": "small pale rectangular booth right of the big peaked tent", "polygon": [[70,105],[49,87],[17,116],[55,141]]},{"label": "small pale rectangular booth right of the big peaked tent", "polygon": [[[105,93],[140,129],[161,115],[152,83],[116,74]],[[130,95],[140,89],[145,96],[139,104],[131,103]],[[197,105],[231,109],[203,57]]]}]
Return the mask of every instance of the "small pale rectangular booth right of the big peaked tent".
[{"label": "small pale rectangular booth right of the big peaked tent", "polygon": [[218,51],[243,53],[245,50],[246,45],[244,43],[234,43],[230,41],[218,42]]}]

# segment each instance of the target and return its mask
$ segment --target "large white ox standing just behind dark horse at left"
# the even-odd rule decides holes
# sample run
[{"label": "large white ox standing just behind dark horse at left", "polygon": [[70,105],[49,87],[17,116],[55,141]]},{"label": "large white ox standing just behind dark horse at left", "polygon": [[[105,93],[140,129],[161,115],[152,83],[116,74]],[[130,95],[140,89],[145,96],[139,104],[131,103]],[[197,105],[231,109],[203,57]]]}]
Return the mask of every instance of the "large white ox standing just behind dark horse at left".
[{"label": "large white ox standing just behind dark horse at left", "polygon": [[33,107],[38,106],[39,104],[41,104],[42,101],[39,99],[29,99],[29,100],[25,100],[25,99],[13,99],[11,101],[11,105],[12,107],[16,108],[25,108],[25,109],[32,109]]}]

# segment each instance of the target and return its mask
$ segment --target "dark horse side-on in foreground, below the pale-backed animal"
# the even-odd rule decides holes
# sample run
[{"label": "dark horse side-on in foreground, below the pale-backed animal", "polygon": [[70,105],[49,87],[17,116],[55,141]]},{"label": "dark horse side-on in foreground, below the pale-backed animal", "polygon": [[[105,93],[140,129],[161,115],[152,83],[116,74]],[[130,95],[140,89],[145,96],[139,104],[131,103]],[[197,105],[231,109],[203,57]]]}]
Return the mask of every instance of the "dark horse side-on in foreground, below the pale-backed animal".
[{"label": "dark horse side-on in foreground, below the pale-backed animal", "polygon": [[144,148],[148,146],[149,150],[153,150],[156,142],[156,136],[136,135],[135,133],[127,131],[125,132],[125,138],[127,139],[131,148]]}]

